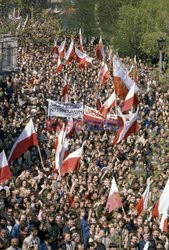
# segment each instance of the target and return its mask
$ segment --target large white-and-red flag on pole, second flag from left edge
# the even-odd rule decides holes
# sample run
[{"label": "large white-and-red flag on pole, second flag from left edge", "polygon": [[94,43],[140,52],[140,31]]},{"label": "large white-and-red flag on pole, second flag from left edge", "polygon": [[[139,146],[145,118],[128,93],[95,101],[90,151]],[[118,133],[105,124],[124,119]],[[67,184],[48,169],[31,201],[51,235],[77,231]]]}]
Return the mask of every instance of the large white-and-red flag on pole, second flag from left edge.
[{"label": "large white-and-red flag on pole, second flag from left edge", "polygon": [[37,145],[38,139],[33,121],[31,119],[11,149],[11,153],[8,158],[9,165],[12,161],[24,154],[30,147]]}]

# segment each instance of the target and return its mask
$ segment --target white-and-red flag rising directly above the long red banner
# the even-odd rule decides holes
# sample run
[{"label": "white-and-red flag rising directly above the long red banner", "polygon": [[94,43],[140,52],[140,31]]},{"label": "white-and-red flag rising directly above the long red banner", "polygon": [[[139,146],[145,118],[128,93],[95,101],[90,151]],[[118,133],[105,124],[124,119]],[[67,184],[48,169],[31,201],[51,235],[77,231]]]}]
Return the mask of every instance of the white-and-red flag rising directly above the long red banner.
[{"label": "white-and-red flag rising directly above the long red banner", "polygon": [[113,94],[104,102],[104,104],[102,105],[101,109],[100,109],[100,113],[106,117],[107,113],[110,112],[110,110],[114,107],[117,106],[116,103],[116,94],[115,92],[113,92]]}]

